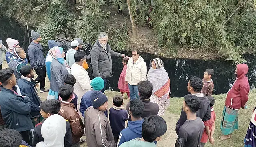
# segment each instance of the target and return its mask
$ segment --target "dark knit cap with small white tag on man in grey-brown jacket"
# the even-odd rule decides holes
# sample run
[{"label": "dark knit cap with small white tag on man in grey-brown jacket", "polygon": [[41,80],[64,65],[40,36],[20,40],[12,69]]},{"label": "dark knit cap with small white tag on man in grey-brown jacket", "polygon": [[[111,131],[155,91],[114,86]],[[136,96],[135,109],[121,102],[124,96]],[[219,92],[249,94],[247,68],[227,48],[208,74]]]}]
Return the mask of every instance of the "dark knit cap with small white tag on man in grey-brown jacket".
[{"label": "dark knit cap with small white tag on man in grey-brown jacket", "polygon": [[103,105],[106,101],[108,101],[108,98],[101,91],[93,91],[93,93],[91,94],[91,101],[92,101],[93,108],[97,109],[98,107]]}]

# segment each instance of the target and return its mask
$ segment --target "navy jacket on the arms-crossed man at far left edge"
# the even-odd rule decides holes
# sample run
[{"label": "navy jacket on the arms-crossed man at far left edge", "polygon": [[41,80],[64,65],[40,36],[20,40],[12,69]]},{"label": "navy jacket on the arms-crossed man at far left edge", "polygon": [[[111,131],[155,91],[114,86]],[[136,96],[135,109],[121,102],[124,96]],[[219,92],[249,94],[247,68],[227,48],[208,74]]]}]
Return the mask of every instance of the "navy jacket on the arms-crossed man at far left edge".
[{"label": "navy jacket on the arms-crossed man at far left edge", "polygon": [[[24,95],[23,92],[22,95]],[[28,96],[19,96],[14,91],[1,87],[0,105],[6,128],[14,129],[18,132],[34,128],[28,115],[31,111],[30,98]]]}]

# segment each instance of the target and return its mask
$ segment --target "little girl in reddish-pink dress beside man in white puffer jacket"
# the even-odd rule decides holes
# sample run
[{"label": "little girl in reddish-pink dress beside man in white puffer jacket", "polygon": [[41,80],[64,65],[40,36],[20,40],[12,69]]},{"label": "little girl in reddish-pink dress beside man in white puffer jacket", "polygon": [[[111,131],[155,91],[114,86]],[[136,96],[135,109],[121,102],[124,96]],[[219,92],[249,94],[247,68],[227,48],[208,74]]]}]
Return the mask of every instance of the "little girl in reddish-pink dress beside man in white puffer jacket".
[{"label": "little girl in reddish-pink dress beside man in white puffer jacket", "polygon": [[123,71],[121,72],[120,74],[120,77],[119,77],[119,81],[118,81],[118,89],[120,89],[120,92],[123,96],[124,93],[127,94],[128,96],[128,101],[130,101],[130,91],[129,91],[129,87],[128,87],[128,84],[125,83],[124,81],[124,78],[125,78],[125,74],[126,74],[126,69],[127,69],[127,62],[128,60],[130,59],[130,57],[124,57],[123,58],[123,65],[124,65],[124,68],[123,68]]}]

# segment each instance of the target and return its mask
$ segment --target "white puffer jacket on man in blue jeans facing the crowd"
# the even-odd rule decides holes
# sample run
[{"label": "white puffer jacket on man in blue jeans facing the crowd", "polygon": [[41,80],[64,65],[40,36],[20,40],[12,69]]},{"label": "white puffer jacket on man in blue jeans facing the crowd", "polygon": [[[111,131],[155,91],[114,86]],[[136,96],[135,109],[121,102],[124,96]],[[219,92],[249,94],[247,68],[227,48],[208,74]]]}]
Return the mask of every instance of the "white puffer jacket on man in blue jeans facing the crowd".
[{"label": "white puffer jacket on man in blue jeans facing the crowd", "polygon": [[133,63],[133,59],[130,58],[127,63],[127,70],[125,75],[125,81],[128,81],[130,85],[136,86],[140,81],[144,81],[147,78],[147,64],[141,56]]}]

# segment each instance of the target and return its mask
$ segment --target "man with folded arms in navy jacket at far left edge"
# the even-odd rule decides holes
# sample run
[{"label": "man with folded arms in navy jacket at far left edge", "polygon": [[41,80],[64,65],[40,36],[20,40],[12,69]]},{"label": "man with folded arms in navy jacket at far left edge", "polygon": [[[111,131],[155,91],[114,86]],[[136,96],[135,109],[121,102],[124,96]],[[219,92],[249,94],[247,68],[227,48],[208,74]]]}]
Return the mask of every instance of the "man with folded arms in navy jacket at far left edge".
[{"label": "man with folded arms in navy jacket at far left edge", "polygon": [[[31,111],[30,98],[17,93],[16,77],[10,68],[0,70],[0,82],[2,82],[0,92],[1,113],[6,128],[14,129],[22,135],[24,141],[32,144],[33,123],[29,117]],[[21,92],[24,95],[23,92]]]}]

